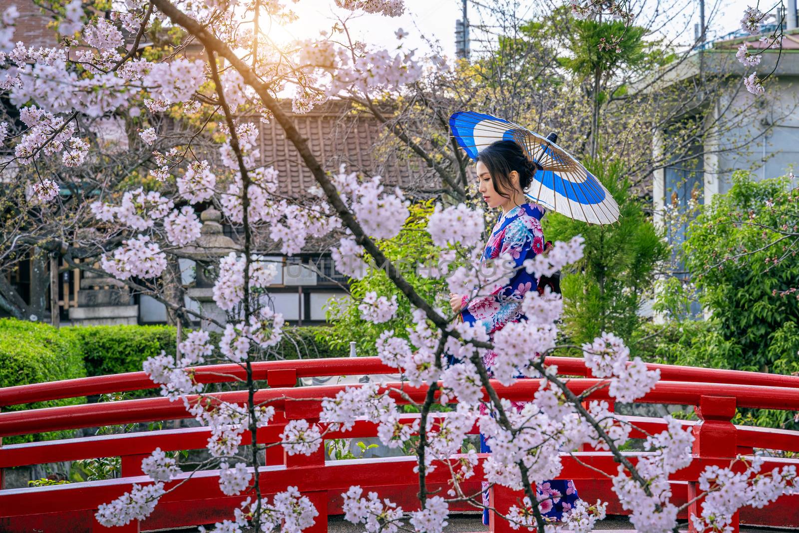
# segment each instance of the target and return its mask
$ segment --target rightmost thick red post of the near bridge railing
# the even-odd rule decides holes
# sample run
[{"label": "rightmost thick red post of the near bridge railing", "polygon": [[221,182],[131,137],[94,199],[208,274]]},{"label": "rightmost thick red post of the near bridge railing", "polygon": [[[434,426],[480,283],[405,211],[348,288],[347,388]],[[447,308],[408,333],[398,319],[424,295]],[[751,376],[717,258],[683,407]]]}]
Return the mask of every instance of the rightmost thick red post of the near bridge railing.
[{"label": "rightmost thick red post of the near bridge railing", "polygon": [[[728,396],[700,396],[696,406],[699,424],[694,426],[694,455],[714,459],[733,459],[737,455],[737,434],[732,420],[735,416],[736,400]],[[688,483],[688,501],[701,492],[698,483]],[[692,516],[702,515],[702,499],[688,507],[688,531],[696,533]],[[733,515],[733,531],[738,531],[738,513]]]}]

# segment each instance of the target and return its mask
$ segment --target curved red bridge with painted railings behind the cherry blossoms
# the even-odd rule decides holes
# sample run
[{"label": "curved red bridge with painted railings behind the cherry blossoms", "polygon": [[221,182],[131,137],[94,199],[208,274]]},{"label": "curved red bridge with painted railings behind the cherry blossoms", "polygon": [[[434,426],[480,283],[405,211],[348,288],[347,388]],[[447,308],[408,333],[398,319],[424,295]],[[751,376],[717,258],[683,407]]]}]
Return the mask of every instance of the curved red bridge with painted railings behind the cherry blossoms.
[{"label": "curved red bridge with painted railings behind the cherry blossoms", "polygon": [[[572,391],[579,393],[597,384],[589,379],[582,360],[550,357],[563,376],[581,376],[570,379]],[[708,465],[729,466],[737,454],[751,454],[753,448],[799,452],[799,432],[773,428],[735,426],[730,420],[736,408],[765,408],[799,411],[799,377],[736,372],[707,368],[690,368],[670,365],[649,365],[660,368],[661,381],[654,390],[638,403],[694,405],[699,422],[686,421],[693,427],[694,461],[671,478],[673,503],[682,505],[696,494],[696,480]],[[257,441],[261,444],[280,442],[279,435],[288,420],[314,420],[319,416],[320,397],[334,396],[344,386],[295,388],[297,379],[310,376],[347,376],[361,374],[391,374],[396,369],[382,364],[376,357],[336,360],[293,360],[259,362],[252,364],[256,380],[265,380],[268,388],[255,394],[256,403],[275,399],[274,422],[260,428]],[[222,364],[197,368],[196,379],[201,383],[233,381],[229,374],[244,378],[244,370],[236,364]],[[348,385],[352,386],[352,385]],[[539,380],[520,380],[512,387],[495,384],[499,396],[511,400],[527,400],[539,388]],[[144,372],[131,372],[115,376],[97,376],[79,380],[54,383],[30,384],[0,389],[0,406],[29,404],[43,400],[73,398],[109,392],[135,391],[156,388]],[[422,402],[426,388],[407,388],[409,396]],[[220,400],[245,404],[248,393],[221,392],[214,394]],[[600,389],[592,399],[610,400],[606,390]],[[407,403],[396,396],[398,403]],[[407,421],[418,415],[407,415]],[[440,416],[446,416],[446,413]],[[24,435],[65,429],[93,428],[109,424],[146,423],[159,420],[190,418],[181,401],[146,398],[118,402],[83,404],[58,408],[31,409],[3,412],[0,414],[0,436]],[[634,430],[631,437],[642,438],[643,432],[660,432],[666,428],[662,419],[635,416],[621,417],[629,420],[642,431]],[[476,433],[477,428],[473,431]],[[154,432],[135,432],[124,435],[93,436],[82,439],[50,440],[30,444],[14,444],[0,447],[0,468],[19,467],[31,464],[54,463],[77,459],[121,457],[121,478],[86,483],[68,483],[46,487],[18,488],[0,491],[0,531],[43,531],[44,533],[66,533],[69,531],[111,531],[94,519],[94,512],[101,503],[129,491],[133,483],[149,483],[148,476],[141,471],[144,459],[156,447],[163,451],[204,449],[208,428],[184,428]],[[376,424],[361,420],[350,432],[328,434],[329,439],[376,436]],[[250,434],[245,432],[242,444],[250,444]],[[615,473],[609,452],[580,451],[577,459],[564,454],[562,478],[575,479],[580,496],[588,501],[600,498],[609,501],[609,515],[623,515],[625,511],[614,500],[610,482],[602,479],[593,468]],[[629,452],[635,461],[638,452]],[[306,530],[310,533],[327,531],[327,516],[342,514],[341,493],[350,485],[360,485],[369,491],[377,491],[381,497],[411,511],[418,508],[415,503],[418,475],[413,472],[414,457],[391,457],[382,459],[348,459],[325,461],[324,448],[314,455],[288,456],[282,447],[270,447],[266,454],[267,466],[260,468],[261,490],[264,495],[282,491],[293,485],[307,495],[320,515],[316,524]],[[581,464],[584,463],[584,464]],[[763,471],[786,464],[799,466],[799,459],[766,459]],[[587,466],[586,466],[587,465]],[[479,491],[482,471],[465,488]],[[141,522],[117,527],[114,531],[149,531],[170,527],[209,524],[230,519],[233,509],[243,499],[241,495],[226,496],[219,488],[219,471],[198,471],[181,475],[167,483],[166,488],[180,483],[176,490],[161,497],[160,503],[149,518]],[[189,479],[186,479],[189,478]],[[2,481],[2,477],[0,477]],[[447,469],[437,468],[428,476],[432,490],[446,487]],[[2,487],[2,485],[0,485]],[[519,494],[503,487],[495,487],[493,498],[499,511],[516,503]],[[462,503],[451,506],[451,511],[473,510]],[[698,503],[688,507],[687,515],[698,513]],[[799,495],[786,495],[769,507],[740,511],[740,523],[769,527],[799,527]],[[492,523],[492,531],[511,531],[507,523]]]}]

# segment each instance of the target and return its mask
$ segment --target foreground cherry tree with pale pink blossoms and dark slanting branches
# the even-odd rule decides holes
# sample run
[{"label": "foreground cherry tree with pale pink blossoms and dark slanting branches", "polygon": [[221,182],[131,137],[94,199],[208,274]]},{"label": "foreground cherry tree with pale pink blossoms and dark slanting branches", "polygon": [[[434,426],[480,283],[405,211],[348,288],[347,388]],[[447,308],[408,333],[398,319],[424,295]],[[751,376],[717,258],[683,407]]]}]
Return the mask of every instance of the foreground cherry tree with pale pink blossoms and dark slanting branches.
[{"label": "foreground cherry tree with pale pink blossoms and dark slanting branches", "polygon": [[[335,3],[340,9],[374,16],[393,17],[404,9],[401,0]],[[596,12],[605,7],[597,2],[585,9]],[[610,9],[618,10],[615,4]],[[200,225],[193,207],[197,202],[212,201],[227,221],[240,228],[241,247],[221,260],[213,299],[226,312],[225,322],[216,321],[224,329],[219,351],[225,360],[246,370],[242,384],[248,401],[219,400],[193,380],[192,368],[209,362],[213,354],[206,331],[190,332],[181,340],[177,359],[162,353],[144,363],[145,372],[161,385],[161,393],[181,401],[187,412],[210,429],[210,458],[197,470],[217,467],[221,492],[241,495],[240,506],[230,519],[217,523],[216,531],[240,531],[247,525],[257,531],[278,527],[302,531],[320,514],[297,487],[279,487],[276,494],[268,495],[273,489],[263,487],[259,475],[264,445],[251,445],[249,455],[240,452],[244,434],[248,432],[256,443],[257,429],[275,417],[270,402],[256,402],[252,360],[280,341],[284,326],[283,317],[268,305],[268,284],[275,270],[256,253],[259,235],[279,242],[288,255],[298,253],[308,238],[332,235],[339,239],[333,257],[340,272],[357,278],[366,268],[384,268],[414,308],[407,338],[387,330],[375,347],[381,360],[402,374],[401,383],[345,388],[322,400],[318,423],[292,420],[285,425],[280,443],[266,445],[281,446],[288,455],[310,455],[323,444],[325,435],[352,429],[359,417],[376,421],[378,437],[388,447],[407,444],[418,433],[419,510],[404,512],[375,493],[364,497],[363,488],[353,486],[342,495],[345,515],[352,522],[364,523],[368,531],[397,531],[400,520],[407,518],[415,531],[442,531],[452,503],[483,507],[479,494],[468,493],[462,485],[482,461],[488,483],[524,492],[523,502],[506,515],[498,513],[502,519],[513,527],[557,531],[560,524],[547,523],[543,517],[534,484],[558,477],[562,456],[590,445],[609,451],[618,462],[618,471],[606,475],[638,531],[676,527],[681,509],[670,502],[668,479],[691,463],[692,433],[677,420],[667,419],[666,431],[646,438],[646,450],[653,453],[642,455],[634,464],[620,451],[630,436],[630,424],[615,418],[606,401],[590,399],[592,392],[607,388],[615,400],[637,400],[658,382],[659,372],[648,370],[638,358],[630,360],[623,341],[604,332],[582,345],[586,366],[598,380],[594,386],[580,390],[562,380],[547,362],[562,348],[557,344],[562,300],[550,292],[543,296],[528,292],[519,302],[528,320],[507,324],[493,339],[482,324],[457,322],[450,312],[424,300],[377,244],[400,232],[408,216],[409,201],[403,192],[388,189],[377,176],[325,169],[278,97],[283,91],[293,91],[293,111],[302,113],[332,97],[402,93],[419,73],[435,65],[403,52],[370,50],[362,42],[325,37],[280,46],[260,30],[268,23],[296,18],[280,2],[126,0],[113,4],[107,13],[97,13],[72,0],[54,6],[54,12],[63,46],[49,50],[14,43],[16,11],[8,8],[2,16],[4,42],[0,44],[6,50],[2,51],[5,69],[0,83],[18,105],[19,117],[4,139],[14,149],[14,156],[4,164],[6,170],[13,165],[35,167],[43,156],[58,157],[70,168],[86,165],[94,155],[93,145],[84,138],[89,136],[84,133],[84,117],[200,113],[197,132],[211,121],[218,123],[217,133],[222,137],[218,163],[193,150],[199,133],[192,133],[182,136],[166,153],[154,154],[152,186],[133,186],[116,196],[101,189],[78,202],[96,221],[92,228],[97,242],[119,241],[113,249],[103,249],[99,261],[102,271],[124,283],[156,280],[169,268],[170,248],[197,240]],[[181,28],[187,40],[202,47],[201,58],[172,56],[152,61],[140,54],[141,36],[156,19]],[[123,32],[132,40],[126,41]],[[280,197],[275,169],[257,164],[258,129],[244,120],[248,115],[239,113],[248,106],[256,109],[258,119],[280,125],[315,177],[318,189],[309,191],[302,202],[289,203]],[[168,135],[154,127],[137,132],[146,145],[155,145]],[[35,197],[45,206],[42,216],[46,216],[64,184],[57,173],[38,177]],[[474,296],[480,297],[507,284],[517,268],[536,276],[551,275],[582,256],[582,237],[574,237],[555,243],[550,253],[523,265],[515,266],[503,254],[491,262],[492,268],[485,268],[478,262],[483,229],[479,210],[467,205],[437,209],[427,233],[443,256],[460,261],[431,275],[446,278],[454,292],[476,288]],[[396,300],[376,292],[358,302],[364,320],[376,324],[389,320],[396,306]],[[181,304],[173,304],[173,310],[189,312]],[[493,376],[483,363],[489,354],[496,361]],[[460,362],[451,364],[450,355]],[[512,404],[500,396],[501,386],[519,385],[523,378],[534,379],[527,381],[535,385],[533,400]],[[409,392],[423,392],[423,402],[414,401]],[[421,412],[419,420],[403,423],[398,400],[415,404]],[[451,401],[458,403],[455,412],[431,416],[435,403]],[[485,458],[473,451],[460,453],[475,423],[493,450]],[[702,472],[699,487],[706,499],[702,514],[694,518],[698,530],[725,531],[740,507],[765,505],[796,488],[793,468],[764,473],[757,457],[738,462],[744,467],[733,464]],[[125,495],[102,505],[96,514],[100,523],[115,526],[145,519],[161,496],[176,486],[173,479],[182,475],[176,459],[160,449],[141,466],[152,482],[135,484]],[[451,473],[446,496],[431,495],[427,489],[427,475],[439,468]],[[604,517],[605,507],[601,501],[582,502],[566,513],[562,525],[590,531]]]}]

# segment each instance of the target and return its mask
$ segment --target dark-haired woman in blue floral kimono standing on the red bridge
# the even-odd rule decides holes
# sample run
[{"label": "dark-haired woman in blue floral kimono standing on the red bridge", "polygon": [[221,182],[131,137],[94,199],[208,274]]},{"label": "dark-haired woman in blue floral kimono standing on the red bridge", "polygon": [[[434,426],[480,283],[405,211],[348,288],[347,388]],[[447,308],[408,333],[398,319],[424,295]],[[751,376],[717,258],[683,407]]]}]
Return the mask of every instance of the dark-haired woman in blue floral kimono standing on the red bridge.
[{"label": "dark-haired woman in blue floral kimono standing on the red bridge", "polygon": [[[544,235],[541,217],[546,213],[543,206],[528,201],[523,190],[531,185],[535,164],[527,159],[521,146],[515,141],[496,141],[479,153],[477,159],[477,179],[479,192],[483,195],[489,209],[501,208],[503,214],[494,226],[482,261],[508,253],[515,261],[515,274],[511,282],[496,288],[487,296],[461,296],[450,294],[454,312],[460,312],[464,322],[480,322],[493,339],[494,332],[505,324],[527,320],[521,313],[520,304],[527,291],[537,291],[538,280],[519,268],[527,259],[544,253]],[[548,251],[548,250],[547,250]],[[497,357],[490,350],[483,356],[488,375]],[[480,451],[490,452],[483,434],[480,434]],[[569,479],[553,479],[536,486],[539,508],[545,518],[559,521],[578,499],[574,483]],[[488,483],[483,483],[483,505],[488,505]],[[488,523],[488,510],[483,511],[483,523]]]}]

